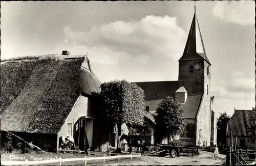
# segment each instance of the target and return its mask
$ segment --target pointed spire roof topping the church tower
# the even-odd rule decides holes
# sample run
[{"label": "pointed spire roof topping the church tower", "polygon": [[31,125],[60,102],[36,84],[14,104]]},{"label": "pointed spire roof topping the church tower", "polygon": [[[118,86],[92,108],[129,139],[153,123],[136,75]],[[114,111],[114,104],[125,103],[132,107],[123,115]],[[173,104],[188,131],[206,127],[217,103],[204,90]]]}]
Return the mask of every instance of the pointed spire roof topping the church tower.
[{"label": "pointed spire roof topping the church tower", "polygon": [[189,61],[189,60],[205,60],[210,64],[210,61],[206,56],[204,42],[203,42],[196,12],[194,14],[194,17],[190,26],[190,30],[188,33],[187,42],[184,48],[183,55],[179,61]]}]

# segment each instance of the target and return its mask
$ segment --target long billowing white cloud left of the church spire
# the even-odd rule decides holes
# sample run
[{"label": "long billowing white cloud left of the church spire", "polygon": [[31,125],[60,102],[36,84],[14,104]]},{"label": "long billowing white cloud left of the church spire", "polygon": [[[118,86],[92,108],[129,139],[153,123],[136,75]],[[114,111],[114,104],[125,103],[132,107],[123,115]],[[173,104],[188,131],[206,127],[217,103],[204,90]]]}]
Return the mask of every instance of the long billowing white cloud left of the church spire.
[{"label": "long billowing white cloud left of the church spire", "polygon": [[88,32],[72,31],[63,27],[67,38],[78,45],[103,46],[114,52],[124,51],[133,57],[173,59],[181,57],[186,33],[177,24],[176,17],[148,15],[139,21],[115,21],[93,26]]}]

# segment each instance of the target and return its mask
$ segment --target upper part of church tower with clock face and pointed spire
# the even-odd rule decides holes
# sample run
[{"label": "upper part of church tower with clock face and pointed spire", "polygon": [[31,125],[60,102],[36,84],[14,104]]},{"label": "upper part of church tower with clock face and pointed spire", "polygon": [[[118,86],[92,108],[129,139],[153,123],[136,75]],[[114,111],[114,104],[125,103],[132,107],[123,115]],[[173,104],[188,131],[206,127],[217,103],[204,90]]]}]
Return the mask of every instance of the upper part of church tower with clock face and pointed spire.
[{"label": "upper part of church tower with clock face and pointed spire", "polygon": [[187,95],[209,95],[210,61],[204,48],[196,7],[187,42],[179,60],[179,87],[184,87]]}]

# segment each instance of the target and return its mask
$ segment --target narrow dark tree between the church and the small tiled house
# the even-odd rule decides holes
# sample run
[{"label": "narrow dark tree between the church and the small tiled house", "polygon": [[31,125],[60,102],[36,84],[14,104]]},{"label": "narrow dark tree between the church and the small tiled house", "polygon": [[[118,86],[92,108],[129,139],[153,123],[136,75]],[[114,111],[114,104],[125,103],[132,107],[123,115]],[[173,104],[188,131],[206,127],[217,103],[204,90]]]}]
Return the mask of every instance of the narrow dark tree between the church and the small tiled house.
[{"label": "narrow dark tree between the church and the small tiled house", "polygon": [[230,120],[230,116],[226,112],[221,113],[220,117],[217,119],[217,143],[225,144],[226,142],[226,129],[227,123]]}]

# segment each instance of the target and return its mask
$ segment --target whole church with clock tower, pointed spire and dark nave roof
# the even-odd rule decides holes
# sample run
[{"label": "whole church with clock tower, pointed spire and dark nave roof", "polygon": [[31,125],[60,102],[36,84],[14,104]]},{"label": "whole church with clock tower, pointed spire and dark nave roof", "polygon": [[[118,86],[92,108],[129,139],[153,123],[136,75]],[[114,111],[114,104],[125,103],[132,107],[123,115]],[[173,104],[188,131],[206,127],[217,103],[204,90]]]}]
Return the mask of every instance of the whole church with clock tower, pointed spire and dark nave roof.
[{"label": "whole church with clock tower, pointed spire and dark nave roof", "polygon": [[217,142],[216,118],[212,116],[214,111],[211,109],[214,97],[210,96],[210,67],[195,11],[184,52],[179,59],[178,80],[135,82],[144,90],[145,110],[153,114],[166,96],[180,102],[188,124],[180,135],[181,141],[195,145],[200,142],[205,146]]}]

